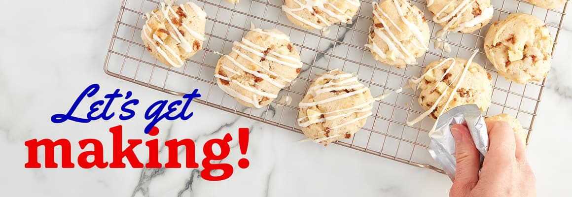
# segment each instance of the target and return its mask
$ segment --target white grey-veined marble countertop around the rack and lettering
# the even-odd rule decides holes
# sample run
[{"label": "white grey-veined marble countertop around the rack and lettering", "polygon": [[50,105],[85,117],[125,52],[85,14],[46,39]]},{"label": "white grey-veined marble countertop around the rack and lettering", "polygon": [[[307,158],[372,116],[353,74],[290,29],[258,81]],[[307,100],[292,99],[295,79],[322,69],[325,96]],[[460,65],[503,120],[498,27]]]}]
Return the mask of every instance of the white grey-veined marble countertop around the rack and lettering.
[{"label": "white grey-veined marble countertop around the rack and lettering", "polygon": [[[241,3],[249,3],[243,0]],[[9,5],[9,2],[3,2]],[[447,196],[447,176],[341,146],[296,143],[300,134],[201,104],[187,121],[161,122],[159,139],[190,138],[197,147],[239,127],[252,128],[246,170],[221,182],[198,178],[193,169],[25,169],[32,138],[97,138],[110,144],[109,127],[122,124],[124,138],[148,139],[142,116],[89,126],[53,124],[86,86],[102,93],[131,90],[145,105],[177,97],[109,77],[102,71],[121,1],[25,1],[3,9],[0,27],[0,196]],[[572,119],[572,17],[567,17],[535,120],[529,146],[538,196],[570,194],[572,162],[566,123]],[[95,99],[102,99],[102,94]],[[87,106],[81,109],[85,110]],[[114,106],[115,109],[118,106]],[[214,118],[213,118],[214,117]],[[235,148],[236,149],[236,148]],[[145,150],[137,150],[145,151]],[[235,164],[239,154],[227,161]],[[110,148],[105,150],[110,158]],[[77,156],[78,150],[73,151]],[[198,156],[201,158],[201,156]],[[140,158],[145,160],[146,158]],[[43,159],[40,159],[43,160]],[[236,166],[236,164],[235,164]]]}]

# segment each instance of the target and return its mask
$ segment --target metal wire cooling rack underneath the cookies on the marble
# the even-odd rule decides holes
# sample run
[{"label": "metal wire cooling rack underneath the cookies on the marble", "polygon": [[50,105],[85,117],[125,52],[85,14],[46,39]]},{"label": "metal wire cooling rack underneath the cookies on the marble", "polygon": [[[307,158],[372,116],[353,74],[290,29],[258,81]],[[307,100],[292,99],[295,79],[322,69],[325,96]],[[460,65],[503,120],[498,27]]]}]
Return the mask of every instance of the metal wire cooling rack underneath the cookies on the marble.
[{"label": "metal wire cooling rack underneath the cookies on the marble", "polygon": [[[177,69],[163,65],[145,52],[145,46],[140,38],[141,27],[145,24],[142,16],[148,11],[157,9],[160,2],[124,0],[105,59],[105,73],[174,95],[183,95],[199,89],[199,93],[203,96],[194,99],[194,102],[301,133],[296,123],[297,106],[312,79],[315,78],[315,74],[332,69],[355,72],[360,82],[370,87],[373,95],[381,95],[392,93],[399,87],[407,85],[408,79],[420,76],[424,66],[433,61],[448,57],[467,59],[472,51],[478,48],[481,52],[476,55],[474,62],[484,66],[491,73],[494,85],[492,104],[484,115],[491,116],[503,112],[514,115],[529,131],[527,143],[530,139],[531,128],[546,81],[519,85],[499,77],[482,52],[488,25],[474,33],[448,35],[447,41],[451,45],[452,52],[444,53],[433,47],[435,33],[441,27],[431,21],[432,15],[427,11],[425,1],[411,0],[412,4],[423,10],[428,19],[432,32],[430,50],[418,59],[420,64],[409,65],[406,69],[396,69],[376,62],[370,51],[363,47],[368,40],[368,29],[372,24],[372,6],[369,0],[362,0],[362,6],[351,25],[334,24],[328,35],[293,26],[281,11],[284,0],[243,0],[236,5],[224,0],[193,2],[207,13],[204,49],[198,51],[184,66]],[[511,13],[533,14],[546,22],[551,35],[555,37],[556,45],[567,4],[562,10],[546,10],[520,0],[492,1],[495,11],[491,22],[505,19]],[[220,56],[213,52],[229,53],[233,41],[240,40],[248,32],[251,22],[257,27],[276,28],[290,35],[291,41],[300,51],[304,63],[302,71],[295,79],[295,83],[281,90],[278,97],[282,95],[291,97],[292,102],[289,104],[279,103],[279,99],[276,99],[265,108],[246,108],[217,87],[213,74]],[[362,130],[351,139],[343,139],[336,143],[443,173],[435,167],[427,151],[430,141],[428,130],[431,129],[434,120],[425,118],[414,126],[407,126],[405,123],[406,120],[415,118],[424,111],[417,100],[415,91],[404,90],[402,93],[392,94],[380,102],[375,102],[374,114],[368,118]]]}]

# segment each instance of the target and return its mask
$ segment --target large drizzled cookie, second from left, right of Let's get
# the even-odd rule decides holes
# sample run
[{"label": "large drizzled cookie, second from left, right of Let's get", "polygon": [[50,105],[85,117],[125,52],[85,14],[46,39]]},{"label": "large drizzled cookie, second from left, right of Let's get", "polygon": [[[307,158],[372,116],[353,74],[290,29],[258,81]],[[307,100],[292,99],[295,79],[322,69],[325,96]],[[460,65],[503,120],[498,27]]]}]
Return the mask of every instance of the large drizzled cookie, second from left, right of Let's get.
[{"label": "large drizzled cookie, second from left, right of Let's get", "polygon": [[302,62],[290,38],[279,30],[252,29],[219,59],[216,81],[247,107],[261,108],[300,73]]}]

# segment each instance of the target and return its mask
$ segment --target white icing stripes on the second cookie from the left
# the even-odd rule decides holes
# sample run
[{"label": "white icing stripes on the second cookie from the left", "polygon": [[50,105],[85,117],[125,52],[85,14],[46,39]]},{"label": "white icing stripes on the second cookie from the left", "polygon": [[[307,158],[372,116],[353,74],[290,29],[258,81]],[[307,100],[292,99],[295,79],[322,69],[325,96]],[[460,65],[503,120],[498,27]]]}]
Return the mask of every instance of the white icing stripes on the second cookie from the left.
[{"label": "white icing stripes on the second cookie from the left", "polygon": [[[290,42],[290,38],[287,35],[280,33],[280,31],[278,31],[278,30],[261,30],[261,29],[256,29],[253,25],[252,25],[251,30],[256,31],[257,33],[267,35],[268,37],[271,37],[271,38],[283,39],[285,41]],[[232,63],[232,65],[238,67],[240,70],[244,71],[244,73],[252,74],[257,78],[261,78],[264,81],[267,81],[268,83],[270,83],[273,86],[276,86],[279,89],[282,89],[283,87],[285,87],[285,85],[287,85],[291,80],[286,79],[284,77],[281,77],[281,75],[278,75],[278,74],[272,72],[269,68],[264,67],[259,61],[255,61],[254,59],[249,57],[249,55],[242,53],[239,49],[244,49],[244,50],[248,51],[249,53],[257,55],[260,58],[267,59],[268,61],[275,62],[281,66],[288,66],[288,67],[292,67],[292,68],[297,69],[297,68],[302,67],[302,65],[303,65],[301,63],[301,61],[299,61],[298,59],[293,58],[293,57],[289,57],[287,55],[282,55],[282,54],[276,53],[275,51],[268,51],[268,54],[261,53],[259,51],[265,51],[268,49],[266,49],[262,46],[259,46],[256,43],[253,43],[246,38],[241,39],[240,42],[235,41],[234,47],[232,48],[232,51],[234,51],[238,55],[237,58],[243,58],[243,59],[247,60],[248,62],[252,63],[253,65],[255,65],[254,68],[262,69],[265,72],[253,70],[253,69],[251,69],[252,66],[243,65],[239,61],[237,61],[237,58],[233,58],[230,55],[224,55],[224,54],[221,54],[219,52],[215,53],[215,54],[223,55],[223,58],[228,59]],[[272,57],[271,55],[273,55],[274,57]],[[283,59],[284,61],[282,61],[280,59]],[[232,69],[231,67],[228,67],[228,65],[220,65],[220,68],[225,70],[225,71],[229,71],[230,73],[233,73],[235,75],[239,75],[239,76],[243,75],[243,74],[239,73],[238,71]],[[271,75],[275,78],[271,77]],[[257,98],[267,97],[267,98],[273,99],[273,98],[278,97],[277,94],[267,93],[264,90],[258,90],[256,88],[249,87],[249,85],[243,85],[242,83],[240,83],[236,79],[224,77],[223,75],[220,75],[218,73],[215,74],[215,77],[222,79],[224,81],[228,81],[229,83],[235,83],[237,86],[241,87],[242,89],[253,93],[253,98],[248,98],[248,97],[245,97],[244,95],[238,93],[237,91],[228,88],[227,86],[220,85],[220,83],[219,83],[219,87],[221,87],[221,89],[223,89],[227,94],[229,94],[232,97],[235,97],[237,99],[244,100],[244,102],[251,103],[256,108],[261,107],[259,100]],[[255,85],[257,85],[257,84],[255,83]]]}]

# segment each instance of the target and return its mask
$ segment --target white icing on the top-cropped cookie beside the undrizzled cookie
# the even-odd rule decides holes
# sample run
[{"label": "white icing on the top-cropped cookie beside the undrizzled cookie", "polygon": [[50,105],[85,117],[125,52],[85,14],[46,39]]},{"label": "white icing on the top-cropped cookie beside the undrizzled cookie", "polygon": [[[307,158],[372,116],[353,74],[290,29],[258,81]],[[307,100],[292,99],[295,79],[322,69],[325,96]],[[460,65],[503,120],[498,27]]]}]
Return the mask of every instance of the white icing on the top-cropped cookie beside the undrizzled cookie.
[{"label": "white icing on the top-cropped cookie beside the undrizzled cookie", "polygon": [[[433,16],[433,21],[435,21],[436,23],[442,23],[442,22],[446,22],[448,21],[448,23],[443,27],[442,30],[437,31],[436,33],[436,37],[437,40],[435,41],[435,49],[442,49],[444,50],[446,53],[450,53],[451,52],[451,47],[448,45],[448,43],[444,40],[446,33],[448,34],[448,32],[452,31],[452,32],[457,32],[460,30],[463,30],[466,27],[472,27],[475,25],[478,25],[479,23],[484,22],[486,19],[492,17],[492,14],[494,13],[494,8],[492,6],[487,7],[486,9],[484,9],[482,11],[482,13],[480,13],[480,15],[474,17],[473,19],[471,19],[470,21],[466,21],[463,23],[460,23],[458,25],[458,27],[456,27],[455,29],[451,29],[451,26],[458,21],[458,19],[460,18],[460,16],[462,15],[462,13],[464,13],[467,9],[469,9],[470,7],[472,7],[472,4],[475,2],[476,0],[464,0],[463,2],[460,3],[459,6],[457,6],[450,14],[444,16],[443,18],[439,18],[439,16],[441,14],[443,14],[443,12],[445,10],[447,10],[448,7],[450,7],[452,5],[452,3],[455,3],[455,1],[451,1],[450,3],[448,3],[446,6],[443,7],[443,9],[441,9],[438,13],[435,13],[435,15]],[[431,6],[433,4],[433,1],[427,1],[427,7]]]}]

